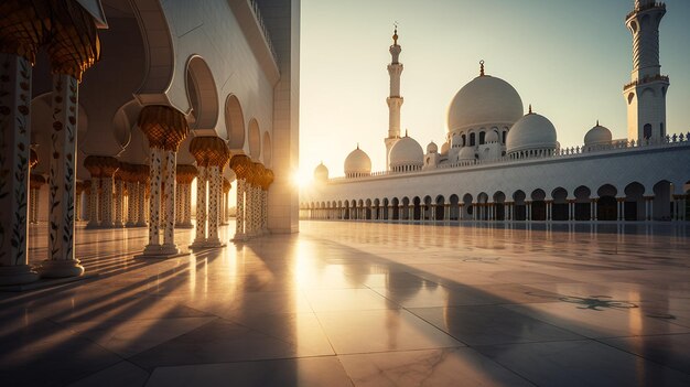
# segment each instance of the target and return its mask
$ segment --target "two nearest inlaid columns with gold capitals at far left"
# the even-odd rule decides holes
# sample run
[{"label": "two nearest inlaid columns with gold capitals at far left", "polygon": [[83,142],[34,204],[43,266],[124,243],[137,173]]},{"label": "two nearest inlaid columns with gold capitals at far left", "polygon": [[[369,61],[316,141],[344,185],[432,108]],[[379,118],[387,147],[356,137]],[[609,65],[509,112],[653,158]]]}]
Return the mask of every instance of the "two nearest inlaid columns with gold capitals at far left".
[{"label": "two nearest inlaid columns with gold capitals at far left", "polygon": [[39,271],[45,278],[84,272],[74,256],[78,89],[83,73],[100,56],[96,23],[76,1],[7,0],[0,18],[0,170],[9,173],[0,173],[0,284],[39,278],[28,260],[28,215],[31,84],[42,47],[53,74],[53,123],[48,246]]}]

